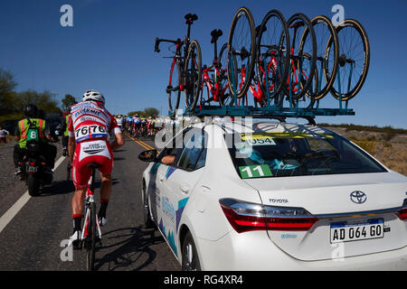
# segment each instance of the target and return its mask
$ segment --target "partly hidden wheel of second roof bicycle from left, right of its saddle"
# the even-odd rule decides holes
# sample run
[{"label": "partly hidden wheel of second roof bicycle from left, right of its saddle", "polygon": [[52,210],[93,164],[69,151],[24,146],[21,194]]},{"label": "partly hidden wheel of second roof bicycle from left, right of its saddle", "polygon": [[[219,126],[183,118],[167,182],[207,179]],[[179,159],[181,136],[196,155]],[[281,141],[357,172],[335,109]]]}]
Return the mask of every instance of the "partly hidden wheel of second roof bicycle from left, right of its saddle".
[{"label": "partly hidden wheel of second roof bicycle from left, right of its saddle", "polygon": [[228,43],[224,43],[221,47],[221,51],[219,51],[219,57],[218,57],[218,63],[219,63],[219,73],[220,75],[218,76],[219,78],[219,89],[220,89],[220,95],[219,95],[219,105],[221,107],[224,106],[232,106],[233,105],[233,98],[232,94],[230,93],[229,89],[229,84],[228,84],[228,78],[227,78],[227,49],[228,49]]}]

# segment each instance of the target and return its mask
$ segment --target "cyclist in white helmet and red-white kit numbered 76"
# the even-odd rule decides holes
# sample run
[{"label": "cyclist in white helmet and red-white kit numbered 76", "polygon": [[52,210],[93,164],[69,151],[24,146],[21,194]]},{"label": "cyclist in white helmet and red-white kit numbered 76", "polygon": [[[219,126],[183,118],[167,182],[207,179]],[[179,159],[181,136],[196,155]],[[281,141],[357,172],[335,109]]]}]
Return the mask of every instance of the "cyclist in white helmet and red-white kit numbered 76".
[{"label": "cyclist in white helmet and red-white kit numbered 76", "polygon": [[[124,137],[114,117],[104,107],[105,98],[96,90],[87,90],[82,102],[71,107],[68,152],[72,165],[75,193],[72,198],[73,247],[80,245],[81,219],[91,169],[89,163],[98,163],[101,186],[99,225],[107,223],[106,210],[111,193],[112,151],[124,144]],[[116,136],[109,144],[109,133]]]}]

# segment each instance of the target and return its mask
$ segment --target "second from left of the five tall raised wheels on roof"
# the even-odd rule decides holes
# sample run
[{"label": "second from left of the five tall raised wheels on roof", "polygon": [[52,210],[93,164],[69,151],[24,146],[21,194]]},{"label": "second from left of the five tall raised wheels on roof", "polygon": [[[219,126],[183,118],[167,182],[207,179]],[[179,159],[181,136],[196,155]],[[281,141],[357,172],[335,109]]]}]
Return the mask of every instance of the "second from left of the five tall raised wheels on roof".
[{"label": "second from left of the five tall raised wheels on roof", "polygon": [[269,98],[279,95],[289,73],[289,28],[283,14],[270,10],[257,29],[256,73],[265,107]]}]

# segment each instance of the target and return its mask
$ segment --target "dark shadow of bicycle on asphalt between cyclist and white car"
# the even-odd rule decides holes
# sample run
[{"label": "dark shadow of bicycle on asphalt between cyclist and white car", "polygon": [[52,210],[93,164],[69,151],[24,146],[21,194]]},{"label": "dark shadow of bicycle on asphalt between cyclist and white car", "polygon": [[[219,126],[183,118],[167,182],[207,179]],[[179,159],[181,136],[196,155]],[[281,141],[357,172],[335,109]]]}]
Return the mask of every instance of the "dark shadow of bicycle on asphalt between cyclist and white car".
[{"label": "dark shadow of bicycle on asphalt between cyclist and white car", "polygon": [[[95,269],[101,266],[108,266],[109,271],[117,269],[126,269],[139,271],[148,266],[156,258],[156,251],[150,246],[164,242],[164,238],[158,234],[155,236],[156,229],[147,229],[142,226],[136,228],[118,228],[104,233],[102,238],[104,242],[111,243],[106,247],[101,247],[96,254]],[[108,240],[108,241],[106,241]],[[104,249],[115,248],[114,251],[102,256]],[[98,256],[102,256],[98,259]]]}]

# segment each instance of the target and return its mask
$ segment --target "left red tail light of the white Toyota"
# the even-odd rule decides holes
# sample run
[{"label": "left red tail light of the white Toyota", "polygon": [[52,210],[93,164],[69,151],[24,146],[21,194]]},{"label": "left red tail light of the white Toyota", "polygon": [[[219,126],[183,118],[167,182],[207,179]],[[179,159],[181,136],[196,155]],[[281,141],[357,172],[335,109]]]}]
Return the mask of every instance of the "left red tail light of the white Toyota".
[{"label": "left red tail light of the white Toyota", "polygon": [[307,231],[317,218],[302,208],[264,206],[234,199],[219,200],[226,219],[242,233],[250,230]]}]

